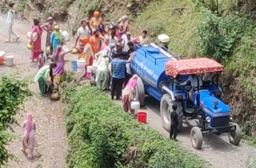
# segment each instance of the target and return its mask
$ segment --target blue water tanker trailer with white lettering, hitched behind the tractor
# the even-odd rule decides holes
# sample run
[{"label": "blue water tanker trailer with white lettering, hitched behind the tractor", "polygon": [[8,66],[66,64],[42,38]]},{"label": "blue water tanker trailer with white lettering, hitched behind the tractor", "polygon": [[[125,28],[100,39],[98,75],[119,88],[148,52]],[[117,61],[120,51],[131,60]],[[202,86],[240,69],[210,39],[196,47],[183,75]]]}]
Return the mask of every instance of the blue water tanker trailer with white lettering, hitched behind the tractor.
[{"label": "blue water tanker trailer with white lettering, hitched behind the tractor", "polygon": [[[170,94],[173,102],[175,100],[175,95],[168,86],[167,76],[165,75],[165,63],[170,60],[176,60],[171,53],[165,52],[156,44],[151,43],[149,46],[141,47],[136,45],[136,53],[131,62],[131,71],[133,74],[138,75],[137,88],[135,99],[140,101],[140,105],[144,105],[145,94],[154,97],[159,102],[162,96],[165,94]],[[179,103],[179,102],[178,102]],[[182,125],[183,111],[182,105],[178,105],[178,116],[179,116],[179,127]],[[170,120],[162,114],[161,119]],[[163,122],[170,123],[170,122]],[[168,131],[170,130],[170,124],[164,125],[164,128]]]}]

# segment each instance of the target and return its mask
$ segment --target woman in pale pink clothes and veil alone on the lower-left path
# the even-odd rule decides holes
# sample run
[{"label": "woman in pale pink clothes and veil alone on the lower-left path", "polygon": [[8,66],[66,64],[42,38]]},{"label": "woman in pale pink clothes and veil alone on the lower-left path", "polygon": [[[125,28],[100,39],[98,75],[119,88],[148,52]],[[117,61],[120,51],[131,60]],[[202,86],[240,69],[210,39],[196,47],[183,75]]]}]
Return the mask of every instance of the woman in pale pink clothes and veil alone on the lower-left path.
[{"label": "woman in pale pink clothes and veil alone on the lower-left path", "polygon": [[23,128],[25,128],[23,136],[23,153],[26,152],[28,148],[28,158],[33,159],[34,147],[37,146],[37,140],[35,139],[35,122],[32,120],[32,114],[28,113],[26,120],[23,123]]}]

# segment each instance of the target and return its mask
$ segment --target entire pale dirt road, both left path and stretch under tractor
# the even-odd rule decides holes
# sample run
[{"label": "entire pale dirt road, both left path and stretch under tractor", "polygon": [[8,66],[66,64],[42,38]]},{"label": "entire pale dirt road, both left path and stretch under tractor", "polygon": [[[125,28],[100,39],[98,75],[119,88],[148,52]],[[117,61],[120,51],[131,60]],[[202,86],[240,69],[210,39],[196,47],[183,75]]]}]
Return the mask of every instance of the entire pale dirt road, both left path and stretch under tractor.
[{"label": "entire pale dirt road, both left path and stretch under tractor", "polygon": [[[5,22],[5,18],[0,16],[0,22]],[[17,22],[14,26],[21,36],[21,42],[5,44],[6,29],[5,25],[0,25],[0,50],[6,50],[7,53],[15,54],[15,67],[0,67],[0,73],[8,73],[17,69],[23,69],[22,72],[29,77],[34,77],[37,71],[35,64],[30,64],[30,52],[25,48],[27,39],[26,32],[31,25]],[[45,35],[45,34],[44,34]],[[45,39],[43,37],[43,39]],[[44,42],[42,43],[44,45]],[[69,44],[73,46],[73,43]],[[75,56],[68,55],[66,57],[66,67],[70,67],[70,60]],[[38,86],[32,85],[31,89],[39,93]],[[30,162],[20,152],[20,141],[16,141],[10,144],[9,150],[20,158],[20,162],[10,162],[9,167],[65,167],[65,156],[67,150],[66,144],[66,130],[63,124],[62,110],[60,102],[51,102],[48,97],[42,97],[37,99],[33,96],[30,100],[34,104],[27,103],[26,111],[32,112],[37,122],[37,137],[40,143],[38,152],[41,153],[41,157],[37,160]],[[116,104],[121,105],[122,102],[115,101]],[[146,111],[148,115],[148,124],[168,137],[168,132],[162,127],[159,103],[151,97],[146,97],[146,106],[141,111]],[[25,114],[25,113],[22,113]],[[19,122],[23,122],[24,116],[17,116]],[[194,123],[183,123],[185,128],[178,134],[178,141],[181,146],[187,148],[189,151],[203,158],[209,162],[212,167],[246,167],[246,162],[256,159],[256,149],[247,146],[245,143],[241,143],[239,146],[233,146],[228,142],[227,135],[217,136],[204,136],[203,148],[201,150],[195,150],[191,146],[189,132],[191,125]],[[187,127],[186,127],[187,126]],[[15,128],[15,132],[21,137],[23,131],[20,127]],[[256,165],[254,166],[256,167]]]}]

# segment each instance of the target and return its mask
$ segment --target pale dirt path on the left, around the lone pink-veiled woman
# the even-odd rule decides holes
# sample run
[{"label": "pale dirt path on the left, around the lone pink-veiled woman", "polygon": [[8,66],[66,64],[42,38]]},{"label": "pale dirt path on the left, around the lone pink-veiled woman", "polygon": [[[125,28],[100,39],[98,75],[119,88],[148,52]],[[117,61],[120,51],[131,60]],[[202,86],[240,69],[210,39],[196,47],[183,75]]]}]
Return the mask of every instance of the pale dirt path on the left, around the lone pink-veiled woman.
[{"label": "pale dirt path on the left, around the lone pink-veiled woman", "polygon": [[[20,72],[21,75],[31,77],[32,79],[37,72],[37,64],[30,63],[30,51],[26,49],[26,33],[31,24],[17,21],[14,30],[21,36],[19,42],[4,43],[7,38],[7,30],[5,17],[0,16],[0,50],[15,55],[15,66],[0,66],[0,73]],[[43,36],[42,46],[45,44],[45,33]],[[50,61],[48,61],[49,63]],[[13,168],[29,168],[29,167],[66,167],[66,153],[68,144],[66,142],[66,129],[62,116],[61,101],[52,102],[49,97],[42,97],[39,94],[38,84],[34,83],[29,86],[34,95],[25,103],[25,110],[16,116],[19,124],[22,124],[26,118],[26,113],[32,113],[36,122],[36,137],[39,146],[35,149],[35,158],[29,161],[21,152],[21,137],[23,137],[23,129],[15,126],[15,134],[19,136],[14,142],[8,146],[10,153],[18,158],[18,162],[10,161],[8,167]]]}]

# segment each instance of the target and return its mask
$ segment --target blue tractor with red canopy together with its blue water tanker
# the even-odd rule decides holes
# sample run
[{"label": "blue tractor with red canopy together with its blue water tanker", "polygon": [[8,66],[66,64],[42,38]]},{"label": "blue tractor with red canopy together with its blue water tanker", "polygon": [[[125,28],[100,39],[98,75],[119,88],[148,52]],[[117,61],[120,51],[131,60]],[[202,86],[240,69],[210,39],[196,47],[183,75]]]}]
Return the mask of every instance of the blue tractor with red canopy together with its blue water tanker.
[{"label": "blue tractor with red canopy together with its blue water tanker", "polygon": [[[178,106],[178,129],[183,119],[197,120],[192,127],[192,146],[200,149],[203,133],[228,133],[230,143],[238,145],[241,130],[232,123],[231,109],[221,100],[219,76],[223,66],[209,58],[177,59],[156,44],[136,46],[131,71],[137,74],[136,99],[144,104],[146,94],[160,102],[163,127],[170,131],[172,105]],[[189,81],[194,78],[195,82]],[[188,81],[188,82],[187,82]]]}]

